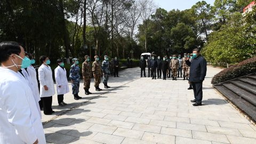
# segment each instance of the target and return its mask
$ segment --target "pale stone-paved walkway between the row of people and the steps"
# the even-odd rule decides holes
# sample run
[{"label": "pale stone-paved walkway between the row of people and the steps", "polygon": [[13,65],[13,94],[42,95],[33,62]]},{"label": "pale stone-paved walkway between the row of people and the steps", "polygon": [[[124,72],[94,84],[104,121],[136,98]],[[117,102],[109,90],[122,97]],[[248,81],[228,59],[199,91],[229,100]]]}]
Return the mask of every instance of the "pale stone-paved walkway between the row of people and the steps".
[{"label": "pale stone-paved walkway between the row of people and the steps", "polygon": [[[211,78],[221,69],[208,67],[203,106],[193,107],[188,82],[138,77],[140,69],[110,78],[108,91],[53,106],[61,116],[43,115],[49,143],[256,143],[256,127],[212,89]],[[103,85],[100,85],[103,88]],[[57,98],[53,98],[57,105]],[[69,110],[71,107],[72,108]],[[64,112],[64,113],[63,113]],[[53,121],[49,121],[53,118]]]}]

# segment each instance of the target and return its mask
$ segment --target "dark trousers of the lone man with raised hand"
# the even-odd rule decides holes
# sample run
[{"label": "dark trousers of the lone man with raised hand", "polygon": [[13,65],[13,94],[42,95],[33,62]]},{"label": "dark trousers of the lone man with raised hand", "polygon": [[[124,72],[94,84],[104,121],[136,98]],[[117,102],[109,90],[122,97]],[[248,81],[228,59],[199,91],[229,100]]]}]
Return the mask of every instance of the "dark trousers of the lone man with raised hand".
[{"label": "dark trousers of the lone man with raised hand", "polygon": [[194,91],[194,97],[196,99],[196,103],[202,103],[203,99],[203,82],[191,82],[193,91]]}]

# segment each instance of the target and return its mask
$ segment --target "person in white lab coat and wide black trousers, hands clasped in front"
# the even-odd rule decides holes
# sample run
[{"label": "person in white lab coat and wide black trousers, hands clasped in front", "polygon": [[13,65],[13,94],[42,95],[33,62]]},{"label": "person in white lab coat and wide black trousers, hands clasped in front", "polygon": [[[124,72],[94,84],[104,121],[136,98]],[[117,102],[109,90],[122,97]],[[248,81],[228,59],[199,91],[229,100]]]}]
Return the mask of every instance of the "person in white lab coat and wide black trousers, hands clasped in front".
[{"label": "person in white lab coat and wide black trousers, hands clasped in front", "polygon": [[45,55],[42,55],[39,60],[42,65],[38,68],[38,79],[40,83],[40,97],[43,102],[43,109],[45,115],[51,115],[54,113],[52,110],[52,95],[55,94],[54,83],[52,79],[52,69],[50,66],[50,60]]}]

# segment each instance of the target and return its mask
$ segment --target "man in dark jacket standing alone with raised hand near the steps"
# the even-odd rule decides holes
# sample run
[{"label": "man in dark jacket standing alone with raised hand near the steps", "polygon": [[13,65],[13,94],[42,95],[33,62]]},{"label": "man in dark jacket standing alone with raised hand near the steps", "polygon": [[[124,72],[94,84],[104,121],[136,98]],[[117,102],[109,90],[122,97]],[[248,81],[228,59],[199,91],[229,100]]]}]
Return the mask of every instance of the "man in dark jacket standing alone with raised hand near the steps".
[{"label": "man in dark jacket standing alone with raised hand near the steps", "polygon": [[207,62],[201,56],[199,49],[193,50],[193,57],[194,59],[191,62],[189,58],[186,58],[186,63],[190,67],[188,81],[192,84],[195,97],[191,102],[195,102],[193,106],[202,106],[203,81],[206,76]]}]

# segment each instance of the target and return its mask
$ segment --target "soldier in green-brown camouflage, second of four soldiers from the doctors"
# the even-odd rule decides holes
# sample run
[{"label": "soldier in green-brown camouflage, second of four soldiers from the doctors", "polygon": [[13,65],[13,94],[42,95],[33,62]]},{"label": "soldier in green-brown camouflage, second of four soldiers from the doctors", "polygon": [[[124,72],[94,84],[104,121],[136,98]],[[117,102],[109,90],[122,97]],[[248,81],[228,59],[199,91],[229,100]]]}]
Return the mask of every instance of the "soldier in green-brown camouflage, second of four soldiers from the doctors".
[{"label": "soldier in green-brown camouflage, second of four soldiers from the doctors", "polygon": [[89,92],[90,84],[91,84],[92,68],[91,68],[89,55],[85,55],[84,59],[85,59],[85,61],[83,62],[83,65],[82,65],[84,91],[85,91],[86,95],[89,95],[89,94],[92,94],[91,92]]}]

